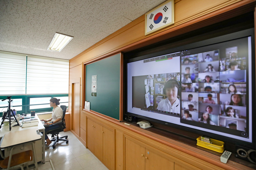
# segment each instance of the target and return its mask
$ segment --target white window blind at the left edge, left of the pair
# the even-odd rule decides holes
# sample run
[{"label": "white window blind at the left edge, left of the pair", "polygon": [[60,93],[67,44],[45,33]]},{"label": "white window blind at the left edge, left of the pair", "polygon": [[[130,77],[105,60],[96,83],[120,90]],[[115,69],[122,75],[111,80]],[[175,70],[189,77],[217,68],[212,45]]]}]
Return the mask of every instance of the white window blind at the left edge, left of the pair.
[{"label": "white window blind at the left edge, left of the pair", "polygon": [[26,93],[27,55],[0,52],[0,95]]}]

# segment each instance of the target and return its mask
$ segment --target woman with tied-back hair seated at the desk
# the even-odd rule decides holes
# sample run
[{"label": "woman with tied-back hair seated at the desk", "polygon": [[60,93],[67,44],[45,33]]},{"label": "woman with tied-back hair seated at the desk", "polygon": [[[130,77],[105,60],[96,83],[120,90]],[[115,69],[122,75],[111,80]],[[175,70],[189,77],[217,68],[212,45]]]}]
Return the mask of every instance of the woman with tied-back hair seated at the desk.
[{"label": "woman with tied-back hair seated at the desk", "polygon": [[[58,129],[59,124],[58,125],[54,125],[54,124],[56,124],[57,122],[62,122],[63,110],[58,106],[59,101],[60,99],[57,99],[57,98],[50,99],[50,106],[53,107],[52,117],[47,120],[44,120],[44,119],[41,120],[46,122],[45,124],[49,125],[45,127],[45,140],[46,140],[45,149],[49,149],[49,145],[52,143],[52,141],[47,136],[47,132],[49,130]],[[48,121],[51,121],[51,122],[47,123]]]}]

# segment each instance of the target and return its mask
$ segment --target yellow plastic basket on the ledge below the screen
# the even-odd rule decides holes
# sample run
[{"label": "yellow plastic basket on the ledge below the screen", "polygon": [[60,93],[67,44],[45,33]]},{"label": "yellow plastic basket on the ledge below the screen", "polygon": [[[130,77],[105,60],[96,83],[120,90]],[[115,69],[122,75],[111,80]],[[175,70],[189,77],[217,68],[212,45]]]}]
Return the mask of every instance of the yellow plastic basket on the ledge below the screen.
[{"label": "yellow plastic basket on the ledge below the screen", "polygon": [[197,138],[197,145],[203,148],[211,149],[219,153],[222,153],[224,151],[224,142],[215,139],[210,139],[210,141],[212,142],[212,144],[203,142],[201,141],[201,136],[199,136]]}]

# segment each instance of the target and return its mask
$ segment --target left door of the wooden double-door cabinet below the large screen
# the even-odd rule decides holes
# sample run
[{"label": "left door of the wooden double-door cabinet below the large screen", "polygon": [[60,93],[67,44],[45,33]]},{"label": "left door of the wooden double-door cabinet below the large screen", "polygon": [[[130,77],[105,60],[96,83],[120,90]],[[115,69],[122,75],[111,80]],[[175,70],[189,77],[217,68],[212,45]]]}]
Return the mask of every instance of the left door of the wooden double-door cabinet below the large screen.
[{"label": "left door of the wooden double-door cabinet below the large screen", "polygon": [[145,147],[128,138],[125,138],[125,170],[145,170]]}]

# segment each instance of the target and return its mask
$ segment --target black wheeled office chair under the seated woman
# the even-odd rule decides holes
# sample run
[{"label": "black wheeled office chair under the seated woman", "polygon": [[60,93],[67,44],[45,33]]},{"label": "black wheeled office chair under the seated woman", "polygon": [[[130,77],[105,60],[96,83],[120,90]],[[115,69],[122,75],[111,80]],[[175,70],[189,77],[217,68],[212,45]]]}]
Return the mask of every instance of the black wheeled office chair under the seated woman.
[{"label": "black wheeled office chair under the seated woman", "polygon": [[[59,141],[66,141],[66,144],[69,143],[69,140],[67,139],[68,136],[59,137],[59,132],[63,132],[64,129],[66,129],[65,114],[66,114],[67,106],[61,105],[60,108],[62,108],[62,110],[63,110],[62,122],[58,122],[58,123],[54,124],[54,125],[59,124],[59,128],[56,128],[56,129],[53,129],[53,130],[49,130],[49,131],[47,132],[47,134],[52,134],[52,138],[53,138],[54,136],[56,136],[56,138],[51,139],[51,141],[54,141],[54,143],[53,143],[53,149],[56,148],[55,144],[56,144],[57,142],[59,142]],[[63,139],[63,138],[65,138],[65,139]]]}]

